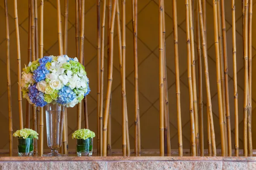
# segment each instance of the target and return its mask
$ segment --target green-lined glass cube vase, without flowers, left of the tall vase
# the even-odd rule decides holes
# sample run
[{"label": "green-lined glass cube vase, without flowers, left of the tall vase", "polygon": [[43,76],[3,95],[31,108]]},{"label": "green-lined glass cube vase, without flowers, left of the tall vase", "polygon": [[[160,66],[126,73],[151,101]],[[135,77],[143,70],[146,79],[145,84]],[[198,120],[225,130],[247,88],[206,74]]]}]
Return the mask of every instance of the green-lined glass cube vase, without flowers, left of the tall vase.
[{"label": "green-lined glass cube vase, without flowers, left of the tall vase", "polygon": [[34,139],[18,138],[18,156],[33,156],[33,154],[34,154]]}]

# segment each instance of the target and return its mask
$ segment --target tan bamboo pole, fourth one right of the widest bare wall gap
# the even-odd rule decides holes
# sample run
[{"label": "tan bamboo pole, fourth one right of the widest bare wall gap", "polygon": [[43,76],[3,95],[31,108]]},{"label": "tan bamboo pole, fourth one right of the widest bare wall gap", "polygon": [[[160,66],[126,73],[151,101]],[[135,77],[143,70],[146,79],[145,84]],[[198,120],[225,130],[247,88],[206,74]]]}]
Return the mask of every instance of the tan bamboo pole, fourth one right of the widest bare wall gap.
[{"label": "tan bamboo pole, fourth one right of the widest bare wall gap", "polygon": [[[191,1],[190,1],[191,3]],[[193,89],[191,77],[191,40],[189,32],[189,0],[185,0],[186,8],[186,47],[187,47],[187,66],[188,66],[188,82],[189,82],[189,115],[190,115],[190,144],[192,156],[196,156],[195,144],[195,121],[194,121],[194,106],[193,106]]]}]

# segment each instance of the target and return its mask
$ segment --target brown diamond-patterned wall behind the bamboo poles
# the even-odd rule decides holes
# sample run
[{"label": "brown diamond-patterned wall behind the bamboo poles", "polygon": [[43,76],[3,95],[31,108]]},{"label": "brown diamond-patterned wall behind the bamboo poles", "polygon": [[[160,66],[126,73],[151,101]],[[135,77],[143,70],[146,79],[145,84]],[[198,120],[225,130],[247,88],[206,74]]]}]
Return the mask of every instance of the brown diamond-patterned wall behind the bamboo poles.
[{"label": "brown diamond-patterned wall behind the bamboo poles", "polygon": [[[174,46],[172,35],[172,0],[165,1],[166,7],[166,64],[167,80],[169,92],[169,113],[170,113],[170,137],[172,149],[177,149],[177,117],[176,117],[176,98],[175,98],[175,66],[174,66]],[[16,64],[16,38],[13,1],[8,1],[9,28],[10,28],[10,55],[11,55],[11,81],[12,81],[12,113],[13,129],[19,127],[18,104],[17,104],[17,64]],[[138,3],[138,63],[139,63],[139,96],[140,96],[140,121],[141,121],[141,145],[143,149],[159,148],[159,88],[158,88],[158,0],[140,0]],[[181,91],[181,113],[183,125],[183,148],[189,149],[189,97],[186,72],[186,33],[185,33],[185,1],[177,0],[177,20],[179,36],[179,57],[180,57],[180,91]],[[103,3],[101,3],[103,4]],[[133,66],[133,38],[131,23],[131,0],[126,0],[126,93],[130,140],[134,140],[134,66]],[[121,9],[121,3],[119,3]],[[230,117],[232,130],[232,147],[234,146],[234,105],[233,105],[233,59],[232,59],[232,30],[231,28],[231,0],[225,0],[226,27],[227,27],[227,54],[229,67],[229,92],[230,92]],[[57,35],[57,9],[55,0],[45,0],[44,3],[44,55],[58,55],[58,35]],[[39,9],[38,9],[39,10]],[[64,21],[64,0],[61,0],[62,21]],[[67,54],[75,57],[75,1],[69,1],[69,23],[68,23],[68,49]],[[102,7],[101,7],[102,11]],[[256,13],[256,5],[253,3],[253,13]],[[20,24],[20,49],[22,66],[27,61],[27,40],[28,40],[28,1],[18,1],[18,15]],[[106,17],[107,18],[107,17]],[[38,18],[40,20],[40,18]],[[213,121],[216,134],[216,146],[220,146],[220,128],[218,122],[218,99],[215,72],[215,50],[213,34],[213,9],[212,0],[207,0],[207,47],[209,62],[209,78],[212,95]],[[107,22],[107,20],[106,20]],[[62,22],[63,23],[63,22]],[[243,89],[244,89],[244,69],[242,56],[242,18],[241,0],[236,0],[236,23],[237,23],[237,76],[239,93],[239,141],[240,149],[242,145],[243,128]],[[105,29],[107,31],[107,29]],[[91,93],[87,97],[89,128],[96,132],[96,100],[97,100],[97,58],[96,58],[96,0],[85,0],[85,29],[84,29],[84,58],[85,69],[90,79]],[[105,32],[105,35],[106,32]],[[253,17],[253,37],[256,37],[256,17]],[[0,1],[0,130],[1,137],[0,149],[8,149],[8,101],[6,87],[6,43],[5,41],[5,20],[4,4]],[[107,38],[105,38],[105,45]],[[196,48],[196,43],[195,43]],[[196,52],[196,50],[195,50]],[[105,47],[105,70],[107,69],[107,50]],[[253,39],[253,57],[256,55],[256,39]],[[198,78],[197,54],[196,75]],[[256,61],[253,60],[253,65]],[[253,73],[256,72],[253,67]],[[106,73],[106,72],[105,72]],[[106,87],[106,74],[104,75],[104,86]],[[198,79],[197,79],[198,81]],[[198,82],[197,82],[198,83]],[[256,78],[253,76],[253,85]],[[254,86],[252,86],[254,87]],[[198,84],[197,84],[198,88]],[[106,88],[105,88],[106,89]],[[105,96],[104,89],[104,96]],[[206,117],[206,91],[203,76],[203,102],[204,102],[204,137],[205,149],[207,149],[207,117]],[[197,90],[198,91],[198,90]],[[253,88],[253,114],[252,128],[253,141],[256,141],[256,90]],[[104,104],[105,106],[105,104]],[[122,148],[122,114],[121,114],[121,81],[119,73],[119,58],[117,50],[116,27],[114,34],[114,69],[112,86],[112,148]],[[23,109],[26,109],[26,101],[23,100]],[[25,110],[23,120],[25,121]],[[31,116],[32,118],[32,116]],[[84,120],[82,114],[82,120]],[[23,122],[24,126],[26,122]],[[30,123],[32,125],[32,121]],[[82,122],[82,128],[84,121]],[[71,139],[72,132],[76,130],[76,107],[68,109],[68,142],[69,148],[75,148],[75,141]],[[44,131],[46,132],[46,130]],[[47,148],[46,140],[45,148]],[[150,142],[148,142],[150,141]],[[134,142],[130,142],[134,148]],[[14,147],[16,140],[14,140]],[[94,143],[96,147],[96,140]],[[253,143],[256,149],[256,142]]]}]

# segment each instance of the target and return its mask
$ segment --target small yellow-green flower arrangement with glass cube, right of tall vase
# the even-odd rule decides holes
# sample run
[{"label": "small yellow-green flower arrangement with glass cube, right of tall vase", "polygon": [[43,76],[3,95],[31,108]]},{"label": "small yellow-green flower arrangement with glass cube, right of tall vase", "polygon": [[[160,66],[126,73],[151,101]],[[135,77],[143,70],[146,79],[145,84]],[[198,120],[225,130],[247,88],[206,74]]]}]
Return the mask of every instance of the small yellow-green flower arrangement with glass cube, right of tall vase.
[{"label": "small yellow-green flower arrangement with glass cube, right of tall vase", "polygon": [[77,156],[92,156],[94,137],[95,133],[89,129],[79,129],[72,134],[72,138],[76,138]]}]

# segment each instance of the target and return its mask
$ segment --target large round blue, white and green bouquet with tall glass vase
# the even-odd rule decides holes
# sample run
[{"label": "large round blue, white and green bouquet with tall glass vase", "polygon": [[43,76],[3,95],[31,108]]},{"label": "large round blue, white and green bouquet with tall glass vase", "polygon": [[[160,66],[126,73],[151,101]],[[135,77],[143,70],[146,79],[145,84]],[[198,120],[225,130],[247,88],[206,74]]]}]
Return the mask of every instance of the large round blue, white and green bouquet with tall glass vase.
[{"label": "large round blue, white and green bouquet with tall glass vase", "polygon": [[64,109],[74,107],[90,92],[84,66],[67,55],[45,56],[23,68],[20,86],[30,104],[46,106],[49,156],[60,156]]}]

